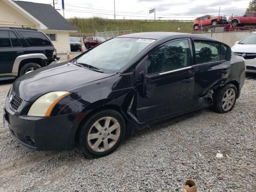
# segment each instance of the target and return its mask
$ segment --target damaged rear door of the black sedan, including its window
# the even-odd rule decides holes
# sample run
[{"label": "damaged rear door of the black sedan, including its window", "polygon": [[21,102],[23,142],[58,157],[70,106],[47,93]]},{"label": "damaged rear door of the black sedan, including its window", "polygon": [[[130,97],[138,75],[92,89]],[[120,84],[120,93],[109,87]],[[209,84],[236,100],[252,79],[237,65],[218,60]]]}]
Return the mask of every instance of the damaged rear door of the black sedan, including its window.
[{"label": "damaged rear door of the black sedan, including its window", "polygon": [[[194,71],[196,107],[207,103],[204,96],[212,87],[222,84],[230,72],[230,48],[220,42],[194,39]],[[209,102],[209,100],[208,100]],[[210,101],[211,102],[211,101]]]}]

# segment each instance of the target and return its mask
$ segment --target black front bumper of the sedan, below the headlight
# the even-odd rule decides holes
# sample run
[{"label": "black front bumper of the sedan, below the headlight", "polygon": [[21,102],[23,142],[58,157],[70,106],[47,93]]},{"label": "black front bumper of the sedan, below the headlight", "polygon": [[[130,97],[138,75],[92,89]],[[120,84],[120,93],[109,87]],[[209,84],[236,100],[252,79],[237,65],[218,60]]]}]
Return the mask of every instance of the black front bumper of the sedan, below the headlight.
[{"label": "black front bumper of the sedan, below the headlight", "polygon": [[[20,108],[28,106],[23,101]],[[46,118],[20,115],[10,107],[8,97],[4,106],[4,118],[10,132],[24,146],[34,150],[70,150],[75,146],[76,130],[85,114],[75,113]]]}]

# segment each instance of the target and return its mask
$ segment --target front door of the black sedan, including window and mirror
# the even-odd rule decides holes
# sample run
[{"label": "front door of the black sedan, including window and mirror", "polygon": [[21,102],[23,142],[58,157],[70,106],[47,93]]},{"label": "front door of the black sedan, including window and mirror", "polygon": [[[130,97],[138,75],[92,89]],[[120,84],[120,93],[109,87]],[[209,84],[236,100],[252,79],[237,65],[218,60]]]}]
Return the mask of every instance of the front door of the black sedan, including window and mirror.
[{"label": "front door of the black sedan, including window and mirror", "polygon": [[190,48],[190,39],[173,40],[153,50],[136,68],[139,122],[178,114],[193,105]]}]

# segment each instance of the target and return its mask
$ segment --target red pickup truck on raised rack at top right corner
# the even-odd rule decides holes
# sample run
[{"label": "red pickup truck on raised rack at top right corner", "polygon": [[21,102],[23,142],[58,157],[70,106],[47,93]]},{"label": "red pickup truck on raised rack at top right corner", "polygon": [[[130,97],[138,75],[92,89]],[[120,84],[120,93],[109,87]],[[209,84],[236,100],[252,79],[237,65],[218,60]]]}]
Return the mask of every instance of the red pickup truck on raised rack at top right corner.
[{"label": "red pickup truck on raised rack at top right corner", "polygon": [[247,12],[243,16],[234,16],[232,18],[232,25],[234,27],[238,25],[252,25],[256,24],[256,12]]}]

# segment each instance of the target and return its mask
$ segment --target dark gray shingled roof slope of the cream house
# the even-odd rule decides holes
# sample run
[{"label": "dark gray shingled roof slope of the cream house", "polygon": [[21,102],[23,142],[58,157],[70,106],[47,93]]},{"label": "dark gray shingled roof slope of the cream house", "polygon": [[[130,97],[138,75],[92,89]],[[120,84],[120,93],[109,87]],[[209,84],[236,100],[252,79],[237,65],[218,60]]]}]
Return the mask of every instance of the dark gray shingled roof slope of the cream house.
[{"label": "dark gray shingled roof slope of the cream house", "polygon": [[48,29],[76,31],[76,29],[50,4],[26,1],[14,2],[42,22]]}]

